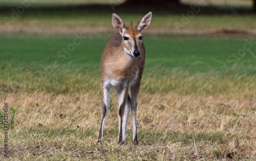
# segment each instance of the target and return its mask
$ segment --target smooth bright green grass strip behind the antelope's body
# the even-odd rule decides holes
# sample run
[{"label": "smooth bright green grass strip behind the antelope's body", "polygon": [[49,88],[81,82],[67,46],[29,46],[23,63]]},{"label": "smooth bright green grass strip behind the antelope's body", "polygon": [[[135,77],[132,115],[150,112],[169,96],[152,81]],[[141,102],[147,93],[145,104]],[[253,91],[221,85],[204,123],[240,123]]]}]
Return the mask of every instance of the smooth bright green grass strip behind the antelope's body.
[{"label": "smooth bright green grass strip behind the antelope's body", "polygon": [[[65,53],[62,51],[63,48],[68,50],[68,47],[73,45],[75,34],[45,37],[15,35],[2,34],[0,38],[0,43],[3,45],[3,55],[0,59],[3,63],[11,62],[14,67],[22,66],[23,68],[26,68],[24,64],[36,63],[36,66],[40,67],[37,69],[46,74],[60,68],[80,71],[99,70],[101,53],[111,36],[111,34],[81,34],[86,38],[80,45],[75,46],[74,50],[70,48],[72,50]],[[237,56],[238,58],[233,56],[233,53],[238,55],[238,51],[243,49],[245,39],[252,39],[250,35],[156,36],[144,34],[144,37],[147,51],[145,70],[160,70],[163,74],[168,73],[169,70],[192,73],[214,71],[223,74],[226,70],[223,71],[222,68],[226,66],[228,73],[253,74],[255,72],[255,47],[251,48],[252,53],[246,51],[244,56]],[[255,42],[255,39],[253,38],[252,41]],[[59,51],[61,52],[58,53]]]}]

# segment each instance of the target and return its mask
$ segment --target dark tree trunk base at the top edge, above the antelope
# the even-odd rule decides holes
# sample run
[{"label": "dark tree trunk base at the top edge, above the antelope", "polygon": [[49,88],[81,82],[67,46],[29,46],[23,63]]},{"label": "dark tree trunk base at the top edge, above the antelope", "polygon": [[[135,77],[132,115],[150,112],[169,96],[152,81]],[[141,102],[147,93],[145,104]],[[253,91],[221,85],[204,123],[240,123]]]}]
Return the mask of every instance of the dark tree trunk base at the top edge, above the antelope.
[{"label": "dark tree trunk base at the top edge, above the antelope", "polygon": [[[254,0],[256,1],[256,0]],[[169,6],[180,5],[180,0],[127,0],[126,5],[143,5],[143,6]]]}]

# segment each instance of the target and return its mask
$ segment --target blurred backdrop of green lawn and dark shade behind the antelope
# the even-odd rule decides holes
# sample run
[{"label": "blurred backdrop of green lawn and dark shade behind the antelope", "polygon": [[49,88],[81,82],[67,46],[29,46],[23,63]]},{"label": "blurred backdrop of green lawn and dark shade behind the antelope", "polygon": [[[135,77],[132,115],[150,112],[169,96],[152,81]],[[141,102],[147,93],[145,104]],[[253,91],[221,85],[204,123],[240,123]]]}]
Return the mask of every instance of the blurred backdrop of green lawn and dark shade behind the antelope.
[{"label": "blurred backdrop of green lawn and dark shade behind the antelope", "polygon": [[0,61],[16,67],[99,71],[115,32],[112,13],[130,26],[152,11],[143,31],[146,70],[255,72],[255,43],[243,49],[246,40],[255,40],[253,0],[2,0],[0,10]]}]

